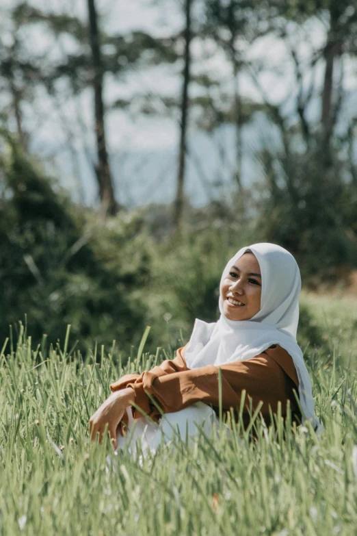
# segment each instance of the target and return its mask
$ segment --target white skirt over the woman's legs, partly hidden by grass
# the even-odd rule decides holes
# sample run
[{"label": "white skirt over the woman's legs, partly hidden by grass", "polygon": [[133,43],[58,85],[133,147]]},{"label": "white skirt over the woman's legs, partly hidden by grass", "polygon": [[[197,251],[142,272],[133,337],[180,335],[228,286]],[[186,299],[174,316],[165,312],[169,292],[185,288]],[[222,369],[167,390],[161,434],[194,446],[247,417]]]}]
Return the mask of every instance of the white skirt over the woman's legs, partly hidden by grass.
[{"label": "white skirt over the woman's legs, partly hidden by grass", "polygon": [[166,413],[159,423],[146,417],[134,420],[131,407],[127,407],[127,414],[129,418],[127,435],[123,437],[118,434],[116,453],[119,449],[126,448],[133,455],[138,448],[143,454],[148,451],[155,452],[161,443],[170,444],[175,436],[181,437],[183,441],[199,433],[210,437],[215,426],[220,424],[213,409],[203,402],[197,402],[174,413]]}]

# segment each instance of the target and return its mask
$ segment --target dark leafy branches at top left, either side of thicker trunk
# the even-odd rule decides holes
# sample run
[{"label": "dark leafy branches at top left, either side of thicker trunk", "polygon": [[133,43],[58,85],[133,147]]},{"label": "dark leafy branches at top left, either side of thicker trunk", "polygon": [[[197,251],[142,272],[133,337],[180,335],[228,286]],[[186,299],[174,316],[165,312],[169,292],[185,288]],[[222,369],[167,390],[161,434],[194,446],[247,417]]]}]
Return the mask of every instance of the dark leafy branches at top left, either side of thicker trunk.
[{"label": "dark leafy branches at top left, either side of thicker trunk", "polygon": [[[5,22],[14,36],[14,44],[0,37],[0,86],[5,88],[18,107],[16,122],[22,121],[21,103],[34,99],[36,88],[46,88],[49,95],[58,97],[63,90],[63,81],[70,84],[73,94],[80,94],[92,85],[93,69],[87,21],[75,16],[66,8],[56,12],[51,8],[39,8],[22,2],[3,10]],[[53,62],[50,54],[36,51],[28,35],[33,30],[41,31],[57,49]],[[70,51],[62,39],[70,37]],[[131,31],[124,35],[101,33],[101,60],[104,73],[122,76],[140,62],[147,66],[159,62],[172,63],[178,54],[174,38],[153,38],[144,31]],[[59,44],[61,43],[61,44]],[[61,81],[57,87],[58,81]],[[31,92],[29,91],[31,89]],[[11,113],[11,112],[10,112]]]}]

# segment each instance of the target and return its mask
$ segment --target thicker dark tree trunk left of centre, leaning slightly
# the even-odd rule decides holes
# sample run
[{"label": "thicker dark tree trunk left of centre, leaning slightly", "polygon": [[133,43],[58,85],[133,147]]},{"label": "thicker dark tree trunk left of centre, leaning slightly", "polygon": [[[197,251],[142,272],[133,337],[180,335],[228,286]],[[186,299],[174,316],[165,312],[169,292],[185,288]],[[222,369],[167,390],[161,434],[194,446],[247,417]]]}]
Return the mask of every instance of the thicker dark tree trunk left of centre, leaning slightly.
[{"label": "thicker dark tree trunk left of centre, leaning slightly", "polygon": [[103,64],[98,32],[98,16],[96,14],[95,0],[88,0],[90,23],[90,48],[93,61],[93,88],[95,133],[98,162],[96,164],[96,178],[99,187],[99,196],[104,214],[114,215],[118,212],[118,204],[114,196],[113,181],[108,161],[107,144],[105,142],[105,122],[103,105]]}]

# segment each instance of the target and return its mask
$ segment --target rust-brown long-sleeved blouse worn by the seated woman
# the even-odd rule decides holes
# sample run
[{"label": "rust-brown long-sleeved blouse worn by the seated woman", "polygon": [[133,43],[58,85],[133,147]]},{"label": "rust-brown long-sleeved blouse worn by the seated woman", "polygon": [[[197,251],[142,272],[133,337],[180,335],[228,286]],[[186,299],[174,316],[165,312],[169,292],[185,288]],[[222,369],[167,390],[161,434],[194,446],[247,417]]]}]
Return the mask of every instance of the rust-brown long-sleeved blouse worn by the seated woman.
[{"label": "rust-brown long-sleeved blouse worn by the seated woman", "polygon": [[[178,411],[198,401],[209,404],[217,410],[220,403],[218,368],[213,365],[190,370],[185,361],[185,349],[179,348],[173,360],[163,361],[161,365],[142,374],[127,374],[110,385],[111,391],[131,387],[135,392],[134,418],[143,414],[157,420],[161,413],[150,400],[152,397],[163,413]],[[281,346],[273,345],[265,352],[248,359],[220,366],[222,371],[222,409],[238,410],[242,392],[244,400],[243,422],[250,421],[250,413],[262,402],[260,413],[267,423],[270,410],[287,414],[287,401],[290,400],[291,413],[297,420],[300,411],[296,403],[299,381],[293,359]],[[294,393],[295,392],[295,393]]]}]

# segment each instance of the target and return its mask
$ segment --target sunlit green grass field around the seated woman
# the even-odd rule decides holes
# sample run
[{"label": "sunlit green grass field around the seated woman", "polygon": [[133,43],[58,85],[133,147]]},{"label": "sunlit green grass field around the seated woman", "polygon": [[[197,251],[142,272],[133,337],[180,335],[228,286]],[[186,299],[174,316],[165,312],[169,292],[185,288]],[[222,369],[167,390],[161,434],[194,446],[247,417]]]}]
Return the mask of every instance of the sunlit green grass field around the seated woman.
[{"label": "sunlit green grass field around the seated woman", "polygon": [[[21,335],[0,359],[0,533],[3,535],[357,534],[357,301],[305,294],[327,346],[306,349],[323,435],[265,429],[253,442],[177,442],[142,463],[91,444],[88,419],[125,372],[116,348],[83,362],[31,349]],[[338,314],[336,313],[338,311]],[[12,351],[11,351],[12,350]],[[40,357],[40,352],[42,355]],[[10,355],[10,353],[12,355]],[[122,356],[124,357],[124,356]],[[107,456],[111,464],[107,466]]]}]

